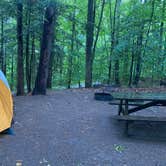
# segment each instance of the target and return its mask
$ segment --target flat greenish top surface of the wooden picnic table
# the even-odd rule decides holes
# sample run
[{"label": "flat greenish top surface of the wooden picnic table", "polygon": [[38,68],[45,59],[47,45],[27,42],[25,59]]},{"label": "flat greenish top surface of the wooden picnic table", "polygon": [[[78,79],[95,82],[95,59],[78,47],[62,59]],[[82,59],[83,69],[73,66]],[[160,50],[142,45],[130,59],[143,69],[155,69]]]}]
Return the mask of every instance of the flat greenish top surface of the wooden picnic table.
[{"label": "flat greenish top surface of the wooden picnic table", "polygon": [[116,100],[166,101],[166,93],[156,92],[112,92]]}]

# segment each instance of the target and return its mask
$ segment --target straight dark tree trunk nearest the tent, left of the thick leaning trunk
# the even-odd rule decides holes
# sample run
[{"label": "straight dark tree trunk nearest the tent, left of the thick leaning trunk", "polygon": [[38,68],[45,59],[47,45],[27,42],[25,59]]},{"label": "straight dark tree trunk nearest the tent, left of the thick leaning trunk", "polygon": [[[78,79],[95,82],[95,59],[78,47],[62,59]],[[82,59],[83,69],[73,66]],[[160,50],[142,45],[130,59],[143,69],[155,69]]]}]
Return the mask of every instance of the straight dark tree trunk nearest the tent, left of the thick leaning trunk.
[{"label": "straight dark tree trunk nearest the tent, left of the thick leaning trunk", "polygon": [[22,32],[23,5],[17,1],[17,95],[24,95],[24,67],[23,67],[23,32]]}]

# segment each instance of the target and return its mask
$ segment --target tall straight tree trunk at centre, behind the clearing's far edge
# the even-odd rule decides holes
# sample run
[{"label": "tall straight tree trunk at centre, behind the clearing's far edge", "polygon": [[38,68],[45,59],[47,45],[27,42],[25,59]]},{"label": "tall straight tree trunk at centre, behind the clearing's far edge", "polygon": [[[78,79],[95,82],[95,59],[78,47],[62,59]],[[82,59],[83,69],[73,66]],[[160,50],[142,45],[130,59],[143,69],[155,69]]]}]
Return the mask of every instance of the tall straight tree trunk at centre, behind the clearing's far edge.
[{"label": "tall straight tree trunk at centre, behind the clearing's far edge", "polygon": [[86,66],[85,66],[85,87],[92,86],[92,65],[93,65],[93,36],[95,24],[95,0],[88,0],[88,14],[86,27]]}]

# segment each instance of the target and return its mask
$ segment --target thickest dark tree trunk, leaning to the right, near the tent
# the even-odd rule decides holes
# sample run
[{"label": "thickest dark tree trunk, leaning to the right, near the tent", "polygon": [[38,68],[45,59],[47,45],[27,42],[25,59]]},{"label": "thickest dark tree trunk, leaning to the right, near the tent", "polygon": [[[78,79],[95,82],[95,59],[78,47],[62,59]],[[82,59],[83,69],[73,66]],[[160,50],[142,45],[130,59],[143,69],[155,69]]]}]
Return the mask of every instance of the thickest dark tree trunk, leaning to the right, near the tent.
[{"label": "thickest dark tree trunk, leaning to the right, near the tent", "polygon": [[43,36],[40,50],[40,61],[35,81],[35,88],[33,89],[33,95],[46,94],[47,78],[48,78],[48,67],[49,59],[52,49],[52,40],[54,33],[54,17],[55,8],[51,3],[46,8]]}]

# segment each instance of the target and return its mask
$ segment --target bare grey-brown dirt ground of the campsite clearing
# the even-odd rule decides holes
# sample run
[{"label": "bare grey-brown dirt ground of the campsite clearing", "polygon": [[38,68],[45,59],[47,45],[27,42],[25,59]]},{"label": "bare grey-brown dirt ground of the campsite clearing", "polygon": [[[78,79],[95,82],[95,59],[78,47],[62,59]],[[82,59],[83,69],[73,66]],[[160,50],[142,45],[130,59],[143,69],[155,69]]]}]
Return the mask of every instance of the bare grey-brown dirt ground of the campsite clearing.
[{"label": "bare grey-brown dirt ground of the campsite clearing", "polygon": [[[166,124],[137,123],[126,137],[117,106],[94,90],[15,97],[14,135],[0,136],[0,165],[166,166]],[[166,116],[166,108],[143,113]]]}]

